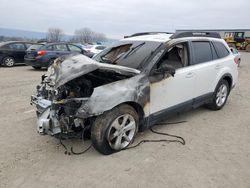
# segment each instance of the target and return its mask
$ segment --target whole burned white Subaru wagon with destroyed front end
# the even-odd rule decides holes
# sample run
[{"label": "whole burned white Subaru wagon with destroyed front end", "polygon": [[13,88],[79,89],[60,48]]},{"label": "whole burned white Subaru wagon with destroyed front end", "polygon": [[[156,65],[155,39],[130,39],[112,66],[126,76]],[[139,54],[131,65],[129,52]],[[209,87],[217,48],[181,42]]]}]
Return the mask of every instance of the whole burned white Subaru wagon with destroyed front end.
[{"label": "whole burned white Subaru wagon with destroyed front end", "polygon": [[111,154],[176,112],[221,109],[237,75],[234,56],[216,33],[140,33],[93,59],[57,59],[31,102],[39,133],[70,137],[90,130],[93,146]]}]

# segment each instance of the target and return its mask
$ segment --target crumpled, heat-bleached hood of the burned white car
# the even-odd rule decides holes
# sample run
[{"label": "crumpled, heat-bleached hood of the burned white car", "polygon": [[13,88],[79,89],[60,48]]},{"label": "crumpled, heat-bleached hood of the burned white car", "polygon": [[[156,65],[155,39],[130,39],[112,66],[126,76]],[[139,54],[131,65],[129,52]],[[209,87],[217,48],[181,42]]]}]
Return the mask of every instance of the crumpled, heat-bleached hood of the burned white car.
[{"label": "crumpled, heat-bleached hood of the burned white car", "polygon": [[47,82],[58,88],[67,82],[88,73],[105,72],[132,77],[140,73],[139,70],[118,65],[98,63],[84,55],[66,56],[58,58],[48,69]]}]

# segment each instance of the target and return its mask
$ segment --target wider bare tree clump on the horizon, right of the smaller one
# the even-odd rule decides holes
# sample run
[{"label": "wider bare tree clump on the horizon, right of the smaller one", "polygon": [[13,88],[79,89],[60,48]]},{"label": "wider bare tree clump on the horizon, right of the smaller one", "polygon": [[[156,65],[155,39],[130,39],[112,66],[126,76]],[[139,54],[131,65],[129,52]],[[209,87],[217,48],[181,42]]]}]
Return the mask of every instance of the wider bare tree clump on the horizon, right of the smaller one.
[{"label": "wider bare tree clump on the horizon, right of the smaller one", "polygon": [[106,36],[103,33],[96,33],[89,28],[82,28],[75,31],[75,36],[71,39],[74,42],[90,43],[90,42],[102,42],[106,40]]}]

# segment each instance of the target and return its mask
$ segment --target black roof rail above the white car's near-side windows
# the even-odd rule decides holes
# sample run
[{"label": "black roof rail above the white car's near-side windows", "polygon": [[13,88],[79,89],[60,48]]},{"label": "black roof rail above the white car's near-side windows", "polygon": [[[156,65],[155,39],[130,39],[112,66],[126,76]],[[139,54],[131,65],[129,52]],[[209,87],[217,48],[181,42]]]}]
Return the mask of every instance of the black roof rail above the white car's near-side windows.
[{"label": "black roof rail above the white car's near-side windows", "polygon": [[209,31],[183,31],[176,32],[170,38],[177,39],[183,37],[212,37],[212,38],[221,38],[220,34],[217,32]]}]

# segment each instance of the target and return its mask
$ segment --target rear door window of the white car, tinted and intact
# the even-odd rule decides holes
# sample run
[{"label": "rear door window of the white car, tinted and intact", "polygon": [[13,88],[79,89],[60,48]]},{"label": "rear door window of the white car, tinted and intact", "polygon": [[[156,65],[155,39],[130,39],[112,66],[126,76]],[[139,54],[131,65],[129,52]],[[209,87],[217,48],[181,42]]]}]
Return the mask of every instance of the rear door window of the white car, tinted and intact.
[{"label": "rear door window of the white car, tinted and intact", "polygon": [[213,60],[210,42],[193,41],[193,64],[204,63]]}]

